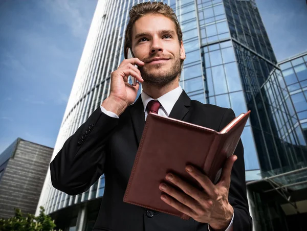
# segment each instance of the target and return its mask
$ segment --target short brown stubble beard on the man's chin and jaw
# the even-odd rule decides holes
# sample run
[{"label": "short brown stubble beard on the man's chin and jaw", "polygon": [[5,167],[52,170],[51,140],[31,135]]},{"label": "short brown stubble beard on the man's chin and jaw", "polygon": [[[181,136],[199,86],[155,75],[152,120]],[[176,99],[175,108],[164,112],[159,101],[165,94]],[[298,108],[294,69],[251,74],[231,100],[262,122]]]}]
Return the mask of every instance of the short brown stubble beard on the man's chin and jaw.
[{"label": "short brown stubble beard on the man's chin and jaw", "polygon": [[178,58],[169,70],[163,73],[155,73],[155,70],[163,67],[164,64],[155,64],[151,67],[152,72],[146,72],[143,67],[140,68],[141,76],[144,79],[144,83],[151,86],[163,87],[170,84],[181,74],[181,61]]}]

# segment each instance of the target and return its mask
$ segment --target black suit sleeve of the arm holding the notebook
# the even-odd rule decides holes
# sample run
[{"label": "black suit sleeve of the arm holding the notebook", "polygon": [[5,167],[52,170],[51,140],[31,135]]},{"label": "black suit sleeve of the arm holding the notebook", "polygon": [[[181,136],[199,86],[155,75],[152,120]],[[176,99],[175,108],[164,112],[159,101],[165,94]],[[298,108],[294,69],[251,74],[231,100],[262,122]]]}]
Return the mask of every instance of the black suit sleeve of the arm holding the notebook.
[{"label": "black suit sleeve of the arm holding the notebook", "polygon": [[[235,118],[232,109],[228,109],[222,119],[219,130],[222,130]],[[229,203],[234,209],[233,230],[249,231],[252,230],[252,218],[249,214],[246,181],[245,181],[245,164],[244,164],[244,148],[241,139],[234,151],[237,155],[232,172],[231,183],[229,189]]]}]

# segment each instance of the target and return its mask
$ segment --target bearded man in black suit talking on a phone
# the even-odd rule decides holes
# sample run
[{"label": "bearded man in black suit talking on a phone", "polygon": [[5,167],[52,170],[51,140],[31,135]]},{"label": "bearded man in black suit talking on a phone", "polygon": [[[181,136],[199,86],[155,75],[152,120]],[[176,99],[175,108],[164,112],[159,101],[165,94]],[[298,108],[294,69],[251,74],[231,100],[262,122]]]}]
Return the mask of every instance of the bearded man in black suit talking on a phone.
[{"label": "bearded man in black suit talking on a phone", "polygon": [[[186,56],[179,22],[166,4],[147,2],[133,7],[126,29],[125,58],[128,48],[136,58],[125,59],[111,74],[109,97],[68,138],[51,162],[53,186],[76,195],[105,174],[104,196],[93,230],[251,230],[241,141],[216,185],[192,166],[186,167],[203,191],[180,176],[167,174],[166,179],[183,192],[161,184],[161,199],[191,219],[123,202],[149,111],[218,131],[235,117],[231,109],[190,100],[179,86]],[[134,104],[140,86],[131,86],[129,75],[143,86]]]}]

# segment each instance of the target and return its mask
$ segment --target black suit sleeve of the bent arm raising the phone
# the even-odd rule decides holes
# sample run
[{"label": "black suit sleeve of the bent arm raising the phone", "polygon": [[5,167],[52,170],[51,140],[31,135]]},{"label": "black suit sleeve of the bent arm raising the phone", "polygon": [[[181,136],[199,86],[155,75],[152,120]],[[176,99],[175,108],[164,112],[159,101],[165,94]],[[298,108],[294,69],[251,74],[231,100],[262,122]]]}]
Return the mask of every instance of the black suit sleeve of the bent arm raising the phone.
[{"label": "black suit sleeve of the bent arm raising the phone", "polygon": [[105,149],[118,123],[98,107],[78,130],[65,141],[50,163],[54,188],[69,195],[88,190],[104,173]]}]

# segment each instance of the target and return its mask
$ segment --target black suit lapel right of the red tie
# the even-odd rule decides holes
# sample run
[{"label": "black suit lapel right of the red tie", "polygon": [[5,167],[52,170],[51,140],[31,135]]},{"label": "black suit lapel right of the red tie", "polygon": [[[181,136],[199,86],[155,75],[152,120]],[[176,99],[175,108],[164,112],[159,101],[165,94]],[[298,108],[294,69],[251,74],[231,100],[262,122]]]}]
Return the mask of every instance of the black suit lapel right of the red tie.
[{"label": "black suit lapel right of the red tie", "polygon": [[191,99],[183,90],[179,99],[172,108],[169,117],[177,120],[183,120],[186,114],[189,112],[191,105]]}]

